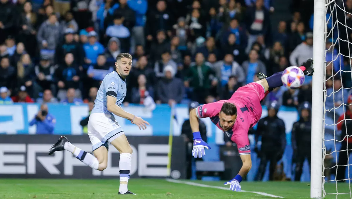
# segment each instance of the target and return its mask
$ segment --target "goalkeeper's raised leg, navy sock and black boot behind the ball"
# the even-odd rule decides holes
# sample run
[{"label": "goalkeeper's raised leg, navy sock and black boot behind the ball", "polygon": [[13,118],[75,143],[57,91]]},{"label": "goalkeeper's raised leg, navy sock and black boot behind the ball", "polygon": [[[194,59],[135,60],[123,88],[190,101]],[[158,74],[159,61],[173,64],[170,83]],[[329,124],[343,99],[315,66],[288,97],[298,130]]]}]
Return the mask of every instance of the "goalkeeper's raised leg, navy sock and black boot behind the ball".
[{"label": "goalkeeper's raised leg, navy sock and black boot behind the ball", "polygon": [[[308,76],[313,75],[314,73],[313,59],[310,58],[307,61],[303,62],[300,68],[302,69],[305,75],[308,75]],[[277,72],[271,75],[270,77],[266,77],[264,74],[258,74],[257,77],[260,80],[257,81],[257,83],[261,84],[264,87],[265,92],[266,91],[270,92],[272,89],[283,85],[281,81],[282,73],[283,71]]]}]

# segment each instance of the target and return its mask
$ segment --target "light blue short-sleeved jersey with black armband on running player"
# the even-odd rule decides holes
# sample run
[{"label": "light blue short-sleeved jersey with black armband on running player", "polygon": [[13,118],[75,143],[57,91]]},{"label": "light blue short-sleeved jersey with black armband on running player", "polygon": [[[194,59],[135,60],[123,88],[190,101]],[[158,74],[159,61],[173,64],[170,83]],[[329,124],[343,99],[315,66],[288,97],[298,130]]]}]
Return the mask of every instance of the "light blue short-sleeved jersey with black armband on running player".
[{"label": "light blue short-sleeved jersey with black armband on running player", "polygon": [[107,74],[103,79],[94,101],[92,113],[113,115],[107,110],[106,106],[107,96],[109,95],[116,98],[116,105],[118,106],[121,106],[126,97],[126,81],[116,71]]}]

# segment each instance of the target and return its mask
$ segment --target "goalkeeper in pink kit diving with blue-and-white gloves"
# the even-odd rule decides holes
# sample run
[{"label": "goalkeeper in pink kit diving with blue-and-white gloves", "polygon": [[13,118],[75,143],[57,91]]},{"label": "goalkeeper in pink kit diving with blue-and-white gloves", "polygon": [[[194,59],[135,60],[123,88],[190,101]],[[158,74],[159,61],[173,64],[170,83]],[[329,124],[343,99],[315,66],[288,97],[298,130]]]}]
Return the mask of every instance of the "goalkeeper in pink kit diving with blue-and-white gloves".
[{"label": "goalkeeper in pink kit diving with blue-and-white gloves", "polygon": [[[308,59],[301,64],[305,75],[313,75],[313,60]],[[189,121],[193,131],[192,155],[201,158],[209,145],[202,140],[199,133],[199,118],[210,118],[212,122],[224,131],[225,135],[235,142],[238,147],[243,165],[232,180],[224,185],[230,185],[230,190],[241,191],[241,181],[252,167],[251,148],[248,140],[248,130],[253,127],[262,116],[260,101],[274,88],[282,86],[282,72],[270,77],[258,74],[259,81],[240,87],[230,99],[220,100],[200,105],[189,114]]]}]

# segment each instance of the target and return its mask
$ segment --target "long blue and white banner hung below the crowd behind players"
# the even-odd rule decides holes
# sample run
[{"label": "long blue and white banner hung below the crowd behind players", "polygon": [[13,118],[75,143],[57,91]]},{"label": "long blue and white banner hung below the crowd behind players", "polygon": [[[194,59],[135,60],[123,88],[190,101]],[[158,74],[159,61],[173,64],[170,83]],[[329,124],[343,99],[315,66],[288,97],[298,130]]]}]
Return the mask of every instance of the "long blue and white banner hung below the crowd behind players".
[{"label": "long blue and white banner hung below the crowd behind players", "polygon": [[[39,104],[0,105],[0,133],[35,134],[36,126],[29,126],[29,122],[38,113],[39,106]],[[88,116],[88,105],[48,104],[48,108],[49,113],[56,118],[54,134],[83,134],[80,121]],[[130,105],[123,108],[125,111],[136,114],[150,123],[150,126],[143,131],[139,130],[136,125],[131,124],[130,121],[116,117],[127,135],[169,135],[171,108],[168,105],[157,105],[153,111],[139,105]],[[262,117],[265,117],[266,114],[266,108],[263,107]],[[284,120],[289,136],[293,123],[298,119],[296,109],[281,107],[278,116]],[[182,124],[188,117],[187,106],[177,105],[175,107],[174,135],[181,134]],[[222,131],[213,125],[210,119],[202,120],[207,126],[208,142],[224,144]]]}]

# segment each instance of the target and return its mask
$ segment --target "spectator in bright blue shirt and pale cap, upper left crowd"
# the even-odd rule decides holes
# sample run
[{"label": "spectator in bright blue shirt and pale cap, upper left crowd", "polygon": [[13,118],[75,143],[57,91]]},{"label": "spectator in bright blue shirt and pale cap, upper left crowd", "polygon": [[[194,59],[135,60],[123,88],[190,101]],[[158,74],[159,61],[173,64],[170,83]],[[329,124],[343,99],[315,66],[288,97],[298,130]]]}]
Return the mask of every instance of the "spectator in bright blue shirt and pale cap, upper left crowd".
[{"label": "spectator in bright blue shirt and pale cap, upper left crowd", "polygon": [[83,45],[84,51],[86,52],[84,62],[86,62],[88,66],[96,64],[98,55],[104,53],[104,47],[96,40],[96,37],[98,37],[98,34],[95,31],[89,32],[89,42]]}]

